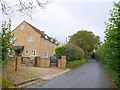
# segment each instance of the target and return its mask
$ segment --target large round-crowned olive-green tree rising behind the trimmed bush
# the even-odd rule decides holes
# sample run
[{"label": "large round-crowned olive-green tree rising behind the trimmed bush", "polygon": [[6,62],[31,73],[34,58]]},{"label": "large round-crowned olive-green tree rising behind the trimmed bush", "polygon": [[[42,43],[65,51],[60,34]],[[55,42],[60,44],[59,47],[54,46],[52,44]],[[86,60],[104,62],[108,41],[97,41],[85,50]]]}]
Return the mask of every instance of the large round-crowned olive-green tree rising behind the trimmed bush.
[{"label": "large round-crowned olive-green tree rising behind the trimmed bush", "polygon": [[91,31],[81,30],[71,36],[68,43],[79,46],[87,53],[96,49],[99,42],[99,36],[95,36]]}]

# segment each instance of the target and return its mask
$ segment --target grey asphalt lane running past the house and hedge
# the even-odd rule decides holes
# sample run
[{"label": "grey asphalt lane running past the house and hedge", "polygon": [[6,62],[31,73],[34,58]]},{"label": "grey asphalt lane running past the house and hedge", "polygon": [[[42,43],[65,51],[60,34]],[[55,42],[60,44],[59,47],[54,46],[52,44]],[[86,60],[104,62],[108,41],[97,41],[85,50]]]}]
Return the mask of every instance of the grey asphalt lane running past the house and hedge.
[{"label": "grey asphalt lane running past the house and hedge", "polygon": [[110,88],[100,64],[94,60],[44,83],[29,88]]}]

